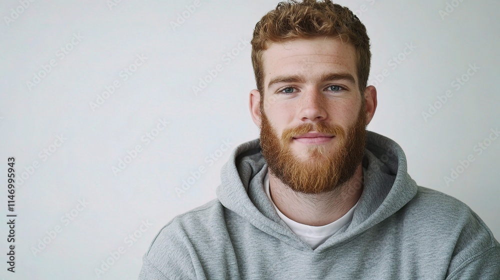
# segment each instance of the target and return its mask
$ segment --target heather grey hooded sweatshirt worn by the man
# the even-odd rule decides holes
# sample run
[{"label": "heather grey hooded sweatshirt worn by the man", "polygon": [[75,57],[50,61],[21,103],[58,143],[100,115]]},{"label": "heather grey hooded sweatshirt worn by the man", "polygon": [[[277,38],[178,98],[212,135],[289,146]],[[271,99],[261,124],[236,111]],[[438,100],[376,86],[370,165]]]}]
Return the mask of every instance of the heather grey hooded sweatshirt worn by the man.
[{"label": "heather grey hooded sweatshirt worn by the man", "polygon": [[417,186],[401,147],[368,132],[352,221],[316,249],[267,198],[258,139],[236,147],[217,199],[174,217],[139,279],[500,279],[500,244],[464,203]]}]

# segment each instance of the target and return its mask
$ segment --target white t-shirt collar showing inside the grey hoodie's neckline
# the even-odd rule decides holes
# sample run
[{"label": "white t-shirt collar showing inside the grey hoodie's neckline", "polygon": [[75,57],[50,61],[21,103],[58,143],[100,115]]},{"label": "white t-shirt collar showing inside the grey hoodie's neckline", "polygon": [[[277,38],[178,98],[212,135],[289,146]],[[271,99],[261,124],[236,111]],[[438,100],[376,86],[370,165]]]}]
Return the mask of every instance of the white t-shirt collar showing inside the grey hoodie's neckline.
[{"label": "white t-shirt collar showing inside the grey hoodie's neckline", "polygon": [[269,193],[269,176],[267,172],[264,177],[264,190],[265,193],[267,193],[267,197],[271,201],[272,205],[274,206],[274,209],[276,210],[278,216],[288,225],[288,227],[295,233],[300,239],[304,240],[309,246],[311,246],[312,249],[317,248],[317,246],[321,245],[328,237],[333,235],[335,232],[337,232],[342,226],[347,224],[352,220],[352,215],[354,214],[354,209],[357,206],[357,203],[359,200],[356,202],[352,208],[350,208],[345,215],[341,216],[339,219],[325,224],[321,226],[313,226],[313,225],[307,225],[307,224],[302,224],[298,223],[287,216],[285,216],[281,211],[276,207],[276,204],[274,204],[274,201],[271,199],[271,195]]}]

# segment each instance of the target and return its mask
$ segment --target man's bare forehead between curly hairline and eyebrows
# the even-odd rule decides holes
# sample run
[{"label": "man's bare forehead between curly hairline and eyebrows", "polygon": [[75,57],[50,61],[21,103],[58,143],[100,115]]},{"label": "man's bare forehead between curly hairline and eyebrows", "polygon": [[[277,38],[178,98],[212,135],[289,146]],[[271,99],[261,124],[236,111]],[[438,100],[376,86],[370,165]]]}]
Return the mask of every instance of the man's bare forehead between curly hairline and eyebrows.
[{"label": "man's bare forehead between curly hairline and eyebrows", "polygon": [[314,37],[270,43],[262,54],[264,86],[273,76],[302,75],[312,78],[325,72],[356,75],[354,46],[339,38]]}]

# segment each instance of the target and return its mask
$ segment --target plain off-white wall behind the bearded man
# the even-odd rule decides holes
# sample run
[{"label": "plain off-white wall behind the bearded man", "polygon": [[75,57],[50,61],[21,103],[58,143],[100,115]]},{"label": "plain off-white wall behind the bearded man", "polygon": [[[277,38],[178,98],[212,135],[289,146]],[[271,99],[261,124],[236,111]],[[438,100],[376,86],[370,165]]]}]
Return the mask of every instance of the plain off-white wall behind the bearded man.
[{"label": "plain off-white wall behind the bearded man", "polygon": [[[368,129],[402,146],[419,185],[464,201],[498,238],[500,139],[485,139],[500,126],[500,2],[448,0],[448,14],[439,13],[445,0],[338,2],[356,10],[371,38],[378,107]],[[20,8],[1,1],[0,277],[135,279],[159,229],[215,198],[231,150],[258,136],[247,104],[255,87],[250,45],[237,46],[277,1],[202,0],[191,12],[192,3],[36,0]],[[12,9],[22,12],[16,17]],[[416,49],[403,54],[407,43]],[[230,51],[236,55],[228,59]],[[136,55],[147,58],[136,66]],[[398,55],[400,64],[389,61]],[[51,59],[57,64],[49,73],[27,85]],[[195,94],[217,64],[222,70]],[[451,83],[469,64],[479,69],[456,90]],[[123,80],[127,67],[134,72]],[[120,87],[92,109],[115,80]],[[439,104],[448,89],[453,95]],[[169,124],[146,144],[158,119]],[[222,152],[224,140],[230,150]],[[474,146],[484,140],[489,146],[478,154]],[[130,162],[127,151],[136,145],[141,151]],[[469,155],[474,161],[457,168]],[[10,156],[24,178],[15,188],[15,274],[6,271]],[[115,175],[120,159],[129,163]],[[175,188],[200,166],[205,172],[179,197]],[[447,184],[452,168],[461,173]],[[66,213],[72,220],[61,219]],[[50,237],[57,226],[62,231]],[[119,247],[124,253],[97,277]]]}]

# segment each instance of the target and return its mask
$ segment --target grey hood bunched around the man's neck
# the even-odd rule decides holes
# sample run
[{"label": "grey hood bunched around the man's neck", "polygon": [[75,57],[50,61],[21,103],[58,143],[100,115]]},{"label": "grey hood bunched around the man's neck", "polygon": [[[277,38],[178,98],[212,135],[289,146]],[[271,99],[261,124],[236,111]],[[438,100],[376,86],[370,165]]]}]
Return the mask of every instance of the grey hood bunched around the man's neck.
[{"label": "grey hood bunched around the man's neck", "polygon": [[[303,249],[305,244],[279,218],[263,189],[267,163],[259,139],[240,144],[221,170],[217,198],[258,229]],[[393,140],[367,131],[363,157],[363,191],[350,223],[314,251],[362,233],[404,206],[417,185],[406,170],[406,157]],[[310,249],[310,247],[309,247]]]}]

